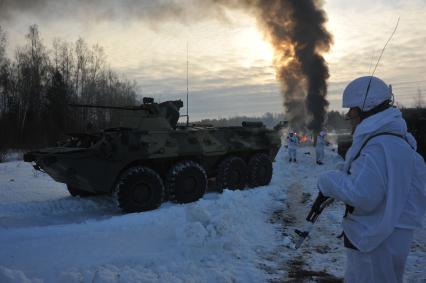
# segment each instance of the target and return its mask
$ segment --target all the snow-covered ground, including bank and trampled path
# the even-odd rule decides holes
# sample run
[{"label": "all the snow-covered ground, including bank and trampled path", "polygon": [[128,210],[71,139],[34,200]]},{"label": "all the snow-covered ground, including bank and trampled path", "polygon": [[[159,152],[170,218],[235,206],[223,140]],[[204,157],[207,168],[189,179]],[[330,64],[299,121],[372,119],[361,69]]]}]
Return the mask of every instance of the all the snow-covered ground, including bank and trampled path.
[{"label": "all the snow-covered ground, including bank and trampled path", "polygon": [[[316,177],[340,161],[328,150],[317,166],[313,152],[300,148],[294,164],[283,148],[269,186],[127,215],[108,197],[71,197],[30,164],[0,164],[0,282],[341,282],[342,204],[291,248]],[[426,282],[426,229],[415,235],[406,280]]]}]

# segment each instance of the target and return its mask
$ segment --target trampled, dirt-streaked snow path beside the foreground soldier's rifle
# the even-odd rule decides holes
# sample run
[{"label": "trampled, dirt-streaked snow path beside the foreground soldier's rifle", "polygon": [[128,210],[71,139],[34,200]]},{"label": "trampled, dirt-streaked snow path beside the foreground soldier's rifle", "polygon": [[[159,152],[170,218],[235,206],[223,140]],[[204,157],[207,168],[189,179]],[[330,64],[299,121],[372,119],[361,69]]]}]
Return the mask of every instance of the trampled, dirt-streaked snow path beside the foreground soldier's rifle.
[{"label": "trampled, dirt-streaked snow path beside the foreground soldier's rifle", "polygon": [[[307,152],[309,149],[302,150]],[[340,272],[336,272],[336,270],[327,270],[325,267],[319,268],[317,264],[317,258],[323,261],[323,266],[327,266],[327,263],[333,265],[333,262],[343,258],[342,248],[338,247],[339,241],[334,241],[336,242],[334,245],[328,242],[330,238],[335,238],[333,229],[339,231],[338,223],[329,225],[329,223],[321,223],[324,221],[318,221],[314,231],[311,232],[311,237],[305,240],[302,247],[298,250],[293,248],[294,229],[304,227],[305,217],[317,193],[311,188],[312,179],[315,178],[308,178],[308,176],[316,175],[325,169],[312,165],[311,157],[310,153],[305,154],[298,158],[300,163],[284,165],[289,171],[287,174],[289,178],[283,180],[289,181],[289,185],[283,188],[286,197],[281,200],[282,207],[275,210],[270,218],[270,222],[277,225],[282,244],[266,257],[270,265],[264,268],[271,275],[271,282],[343,282],[342,278],[334,275],[341,273],[341,268]],[[338,212],[337,214],[339,215]],[[324,218],[323,215],[321,217]],[[336,217],[326,218],[325,222],[335,221],[335,219]],[[318,234],[321,234],[320,237],[313,239]]]}]

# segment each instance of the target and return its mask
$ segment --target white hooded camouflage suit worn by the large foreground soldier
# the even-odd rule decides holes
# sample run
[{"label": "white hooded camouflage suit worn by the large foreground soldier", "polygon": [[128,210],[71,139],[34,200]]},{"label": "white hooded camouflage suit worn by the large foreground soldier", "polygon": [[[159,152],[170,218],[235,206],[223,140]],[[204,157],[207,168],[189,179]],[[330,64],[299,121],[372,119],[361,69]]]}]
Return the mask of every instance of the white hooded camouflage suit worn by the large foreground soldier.
[{"label": "white hooded camouflage suit worn by the large foreground soldier", "polygon": [[[405,140],[374,137],[352,160],[363,142],[380,132]],[[345,282],[403,282],[413,231],[421,227],[426,209],[426,166],[413,148],[416,141],[401,112],[388,108],[356,127],[343,170],[320,176],[325,196],[354,207],[343,220],[345,235],[358,248],[346,249]]]}]

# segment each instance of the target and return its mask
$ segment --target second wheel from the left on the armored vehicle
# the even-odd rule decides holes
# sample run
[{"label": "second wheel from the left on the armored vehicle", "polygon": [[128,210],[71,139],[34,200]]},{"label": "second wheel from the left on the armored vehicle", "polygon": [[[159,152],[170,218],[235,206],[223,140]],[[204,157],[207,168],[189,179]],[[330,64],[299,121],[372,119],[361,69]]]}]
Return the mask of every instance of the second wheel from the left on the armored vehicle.
[{"label": "second wheel from the left on the armored vehicle", "polygon": [[176,164],[166,177],[169,200],[188,203],[198,200],[207,189],[207,174],[204,168],[194,161]]}]

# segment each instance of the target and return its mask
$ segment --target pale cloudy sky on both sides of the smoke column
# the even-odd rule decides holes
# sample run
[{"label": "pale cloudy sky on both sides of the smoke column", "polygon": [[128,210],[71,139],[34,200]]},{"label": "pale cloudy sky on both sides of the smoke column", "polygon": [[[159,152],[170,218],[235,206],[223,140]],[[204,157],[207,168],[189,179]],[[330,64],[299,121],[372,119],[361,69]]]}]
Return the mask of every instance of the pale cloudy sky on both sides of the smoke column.
[{"label": "pale cloudy sky on both sides of the smoke column", "polygon": [[[256,20],[212,2],[0,0],[0,25],[10,56],[31,24],[49,47],[58,37],[97,43],[114,70],[138,83],[140,95],[161,101],[185,98],[188,43],[192,120],[282,112],[272,47]],[[413,105],[419,91],[426,96],[426,0],[329,0],[323,8],[334,37],[325,54],[330,109],[342,110],[345,85],[371,73],[398,17],[375,75],[393,85],[403,105]]]}]

